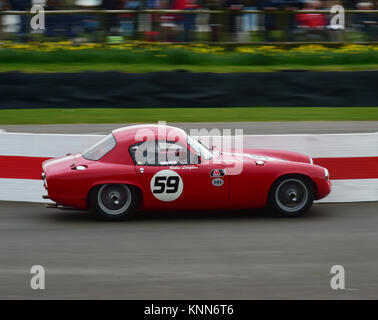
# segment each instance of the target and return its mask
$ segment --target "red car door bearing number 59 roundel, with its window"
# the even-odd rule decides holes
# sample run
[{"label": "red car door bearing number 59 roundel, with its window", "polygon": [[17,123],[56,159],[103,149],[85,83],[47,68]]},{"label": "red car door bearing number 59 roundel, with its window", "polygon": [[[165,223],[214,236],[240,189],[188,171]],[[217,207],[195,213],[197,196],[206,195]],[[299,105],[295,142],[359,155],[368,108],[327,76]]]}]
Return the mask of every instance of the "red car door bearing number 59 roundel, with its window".
[{"label": "red car door bearing number 59 roundel, with its window", "polygon": [[[136,156],[142,153],[141,143],[130,148],[146,209],[223,208],[228,203],[230,182],[224,166],[201,163],[192,150],[177,142],[148,143],[154,145],[143,146],[147,152],[142,161]],[[179,159],[170,160],[169,155],[178,150]]]}]

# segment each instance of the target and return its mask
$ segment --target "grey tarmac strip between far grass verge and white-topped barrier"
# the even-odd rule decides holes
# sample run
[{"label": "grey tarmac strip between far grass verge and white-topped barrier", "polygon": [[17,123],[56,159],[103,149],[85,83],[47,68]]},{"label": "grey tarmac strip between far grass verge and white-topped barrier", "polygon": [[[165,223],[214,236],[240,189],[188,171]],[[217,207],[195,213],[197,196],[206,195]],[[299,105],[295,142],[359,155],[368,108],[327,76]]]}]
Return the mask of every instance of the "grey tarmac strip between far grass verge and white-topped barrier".
[{"label": "grey tarmac strip between far grass verge and white-topped barrier", "polygon": [[[191,128],[243,129],[244,134],[369,133],[378,131],[378,121],[201,122],[168,124],[183,128],[184,130]],[[108,134],[113,129],[128,125],[130,124],[0,125],[0,129],[7,132],[26,133]]]}]

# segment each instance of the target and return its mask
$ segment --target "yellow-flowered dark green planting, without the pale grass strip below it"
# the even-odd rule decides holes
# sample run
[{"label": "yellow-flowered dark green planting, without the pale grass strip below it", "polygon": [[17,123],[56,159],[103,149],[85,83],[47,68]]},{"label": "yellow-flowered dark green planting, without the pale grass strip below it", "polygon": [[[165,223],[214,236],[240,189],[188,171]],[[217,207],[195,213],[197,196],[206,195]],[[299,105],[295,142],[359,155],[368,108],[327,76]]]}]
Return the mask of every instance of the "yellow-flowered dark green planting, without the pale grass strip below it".
[{"label": "yellow-flowered dark green planting, without the pale grass strip below it", "polygon": [[128,44],[102,47],[69,44],[9,45],[0,48],[0,64],[148,64],[197,66],[361,65],[378,64],[378,46],[341,48],[300,46],[222,47]]}]

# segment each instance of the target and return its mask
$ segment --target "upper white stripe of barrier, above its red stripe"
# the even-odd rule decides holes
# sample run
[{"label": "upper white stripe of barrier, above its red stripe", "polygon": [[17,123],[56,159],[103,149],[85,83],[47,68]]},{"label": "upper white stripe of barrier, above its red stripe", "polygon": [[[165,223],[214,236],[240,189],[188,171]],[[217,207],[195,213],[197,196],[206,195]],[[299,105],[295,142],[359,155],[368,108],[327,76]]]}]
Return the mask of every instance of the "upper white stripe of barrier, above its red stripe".
[{"label": "upper white stripe of barrier, above its red stripe", "polygon": [[[2,133],[0,155],[58,157],[67,153],[83,152],[102,137],[102,135]],[[248,135],[244,136],[244,147],[296,151],[314,158],[376,157],[378,134]]]}]

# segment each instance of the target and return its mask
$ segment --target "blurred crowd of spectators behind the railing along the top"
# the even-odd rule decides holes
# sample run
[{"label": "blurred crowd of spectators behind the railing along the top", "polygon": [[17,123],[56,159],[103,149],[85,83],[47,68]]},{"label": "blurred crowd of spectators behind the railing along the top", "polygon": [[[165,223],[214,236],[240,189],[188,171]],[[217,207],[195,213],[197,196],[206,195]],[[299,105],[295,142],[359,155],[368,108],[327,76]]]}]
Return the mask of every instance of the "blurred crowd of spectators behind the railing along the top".
[{"label": "blurred crowd of spectators behind the railing along the top", "polygon": [[[210,41],[220,41],[221,35],[228,36],[229,41],[249,41],[251,31],[263,30],[263,41],[293,41],[300,39],[294,35],[311,40],[324,40],[328,36],[332,41],[343,41],[344,30],[330,25],[332,16],[327,14],[293,14],[292,10],[327,9],[334,5],[346,4],[349,8],[375,10],[376,0],[0,0],[0,10],[29,10],[32,3],[45,3],[47,10],[61,9],[177,9],[187,13],[160,14],[79,14],[46,15],[45,35],[54,38],[69,38],[79,41],[102,40],[124,41],[122,36],[148,41],[185,41],[195,40],[196,31],[210,31]],[[225,10],[226,14],[197,15],[194,10],[201,7],[211,10]],[[263,10],[265,14],[242,14],[242,10]],[[270,14],[275,11],[280,14]],[[286,12],[285,12],[286,11]],[[285,14],[286,13],[286,14]],[[29,32],[29,18],[20,15],[13,21],[21,19],[20,28],[11,19],[0,16],[0,24],[6,19],[6,30],[18,32],[20,40],[26,40]],[[200,21],[209,18],[208,23]],[[366,41],[378,40],[377,14],[360,13],[347,15],[347,21],[353,19],[353,30],[358,37]],[[3,20],[3,21],[2,21]],[[200,20],[200,21],[199,21]],[[261,24],[261,25],[260,25]],[[227,26],[225,26],[227,25]],[[13,26],[9,28],[9,26]],[[225,28],[223,29],[223,26]],[[349,24],[350,26],[350,24]],[[210,30],[209,30],[210,29]],[[222,33],[222,31],[225,31]],[[83,35],[82,37],[79,37]],[[243,38],[241,36],[244,36]],[[315,37],[317,39],[315,39]],[[0,39],[4,38],[0,25]],[[222,37],[223,38],[223,37]]]}]

